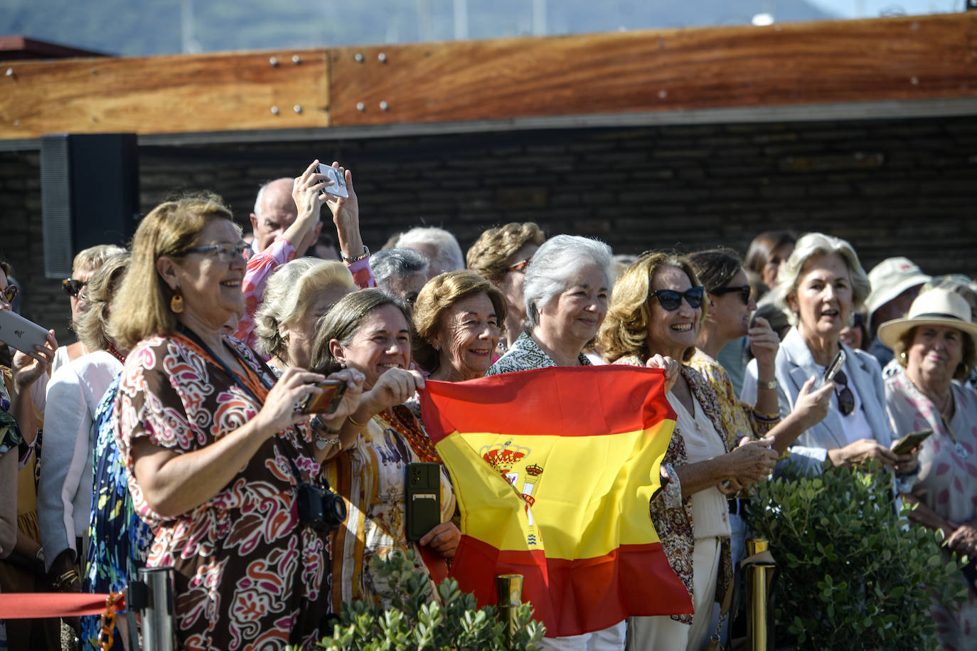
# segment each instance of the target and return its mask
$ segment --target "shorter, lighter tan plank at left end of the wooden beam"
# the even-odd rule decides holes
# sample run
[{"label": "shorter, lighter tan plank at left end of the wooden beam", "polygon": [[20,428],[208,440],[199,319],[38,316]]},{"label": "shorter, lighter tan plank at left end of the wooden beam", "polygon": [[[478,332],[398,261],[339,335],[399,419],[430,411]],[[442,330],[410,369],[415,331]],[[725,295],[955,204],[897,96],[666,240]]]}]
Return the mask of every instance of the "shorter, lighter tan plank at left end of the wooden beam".
[{"label": "shorter, lighter tan plank at left end of the wooden beam", "polygon": [[0,139],[329,126],[327,65],[324,50],[5,64]]}]

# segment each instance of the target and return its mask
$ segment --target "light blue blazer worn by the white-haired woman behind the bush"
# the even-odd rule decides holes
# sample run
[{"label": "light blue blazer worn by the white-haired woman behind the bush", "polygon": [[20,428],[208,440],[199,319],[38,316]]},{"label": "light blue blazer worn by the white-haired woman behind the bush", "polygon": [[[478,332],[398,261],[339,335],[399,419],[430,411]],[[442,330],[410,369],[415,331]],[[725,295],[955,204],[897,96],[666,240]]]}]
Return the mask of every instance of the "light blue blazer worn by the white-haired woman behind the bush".
[{"label": "light blue blazer worn by the white-haired woman behind the bush", "polygon": [[[886,448],[892,445],[895,435],[888,413],[885,411],[885,383],[882,370],[868,353],[853,350],[839,344],[847,356],[844,366],[848,382],[855,385],[862,400],[862,410],[869,421],[874,439]],[[796,327],[791,327],[781,342],[777,352],[777,398],[781,416],[790,413],[804,382],[812,375],[824,372],[814,362],[811,351]],[[751,360],[743,377],[741,398],[753,404],[756,401],[756,360]],[[848,445],[841,412],[837,408],[828,409],[828,415],[820,423],[801,434],[790,447],[789,462],[800,464],[803,471],[813,469],[820,473],[822,462],[828,457],[828,450],[837,450]],[[900,482],[901,484],[902,482]]]}]

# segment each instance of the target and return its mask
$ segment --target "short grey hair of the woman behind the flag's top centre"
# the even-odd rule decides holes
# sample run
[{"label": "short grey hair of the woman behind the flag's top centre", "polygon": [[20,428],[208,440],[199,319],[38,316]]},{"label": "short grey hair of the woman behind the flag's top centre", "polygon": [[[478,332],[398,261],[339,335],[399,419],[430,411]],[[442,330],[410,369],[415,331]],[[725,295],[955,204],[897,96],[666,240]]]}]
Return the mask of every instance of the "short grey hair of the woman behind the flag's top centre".
[{"label": "short grey hair of the woman behind the flag's top centre", "polygon": [[597,265],[604,272],[608,298],[614,276],[611,272],[611,247],[599,239],[560,235],[547,239],[532,254],[532,262],[526,268],[523,296],[526,300],[526,328],[539,325],[539,308],[567,288],[573,274],[587,265]]}]

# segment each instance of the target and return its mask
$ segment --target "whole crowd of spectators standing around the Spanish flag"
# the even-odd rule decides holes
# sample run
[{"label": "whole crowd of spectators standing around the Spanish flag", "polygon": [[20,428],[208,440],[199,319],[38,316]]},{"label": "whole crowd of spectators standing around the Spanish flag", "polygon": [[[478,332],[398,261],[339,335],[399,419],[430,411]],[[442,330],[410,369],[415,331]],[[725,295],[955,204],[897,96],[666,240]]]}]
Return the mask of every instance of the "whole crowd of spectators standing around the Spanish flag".
[{"label": "whole crowd of spectators standing around the Spanish flag", "polygon": [[[788,464],[875,459],[918,504],[913,522],[944,532],[948,559],[977,553],[969,279],[901,257],[867,274],[849,242],[820,233],[760,234],[743,259],[635,257],[512,223],[467,255],[436,228],[371,252],[352,173],[333,163],[348,196],[332,195],[318,164],[261,188],[250,239],[216,195],[159,204],[128,249],[75,258],[76,343],[52,330],[32,351],[2,347],[0,590],[117,591],[170,566],[181,647],[310,648],[344,602],[390,603],[372,557],[413,549],[431,582],[446,576],[461,533],[443,464],[440,521],[419,540],[405,531],[407,464],[441,463],[425,381],[603,364],[665,377],[676,425],[649,526],[695,612],[548,648],[704,648],[743,558],[744,496]],[[0,264],[3,310],[21,289],[12,274]],[[337,382],[326,411],[300,408]],[[970,590],[958,609],[933,607],[945,648],[977,637]],[[99,632],[97,618],[3,624],[18,650],[60,649],[64,632],[95,648]]]}]

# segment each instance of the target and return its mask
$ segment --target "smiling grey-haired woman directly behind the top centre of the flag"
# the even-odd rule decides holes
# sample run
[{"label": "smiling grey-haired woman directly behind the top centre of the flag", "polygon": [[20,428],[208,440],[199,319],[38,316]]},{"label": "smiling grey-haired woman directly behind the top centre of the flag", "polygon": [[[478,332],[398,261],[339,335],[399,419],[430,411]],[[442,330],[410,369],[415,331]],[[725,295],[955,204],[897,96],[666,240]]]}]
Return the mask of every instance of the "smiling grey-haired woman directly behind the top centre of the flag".
[{"label": "smiling grey-haired woman directly behind the top centre of the flag", "polygon": [[[589,366],[583,347],[597,335],[611,297],[611,247],[596,239],[560,235],[543,242],[526,269],[526,329],[488,375],[547,367]],[[543,648],[622,649],[624,622],[572,637],[543,640]]]}]

